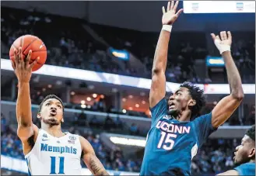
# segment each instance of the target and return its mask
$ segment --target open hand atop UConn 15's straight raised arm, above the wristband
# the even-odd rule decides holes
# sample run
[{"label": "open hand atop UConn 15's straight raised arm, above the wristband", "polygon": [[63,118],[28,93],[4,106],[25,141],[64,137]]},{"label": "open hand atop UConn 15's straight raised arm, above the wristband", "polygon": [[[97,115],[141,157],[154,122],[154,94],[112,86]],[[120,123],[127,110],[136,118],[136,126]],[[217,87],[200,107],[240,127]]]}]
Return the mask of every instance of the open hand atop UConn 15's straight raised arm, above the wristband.
[{"label": "open hand atop UConn 15's straight raised arm, above the wristband", "polygon": [[163,10],[163,17],[162,17],[163,25],[172,25],[172,24],[174,24],[177,17],[180,16],[183,9],[180,9],[176,13],[178,4],[179,4],[178,1],[176,1],[175,4],[174,4],[174,1],[172,1],[172,2],[168,2],[167,11],[165,10],[164,7],[162,8],[162,10]]}]

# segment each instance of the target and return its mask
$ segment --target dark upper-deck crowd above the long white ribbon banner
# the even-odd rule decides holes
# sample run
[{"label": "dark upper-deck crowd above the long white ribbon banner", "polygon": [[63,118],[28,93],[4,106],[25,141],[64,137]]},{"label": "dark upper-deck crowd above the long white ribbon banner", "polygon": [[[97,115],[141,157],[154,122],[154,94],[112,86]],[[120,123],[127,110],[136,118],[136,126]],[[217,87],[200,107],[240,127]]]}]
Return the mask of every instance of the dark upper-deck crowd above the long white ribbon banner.
[{"label": "dark upper-deck crowd above the long white ribbon banner", "polygon": [[[158,33],[87,24],[80,19],[40,12],[9,8],[3,8],[3,11],[6,11],[1,17],[3,57],[8,58],[9,47],[17,37],[32,34],[44,40],[47,46],[47,64],[151,78]],[[83,27],[85,24],[96,31],[106,43],[94,40]],[[254,43],[253,39],[233,41],[233,58],[244,83],[254,82]],[[209,55],[205,46],[205,33],[175,34],[168,54],[167,81],[212,82],[211,75],[206,71],[198,75],[195,67],[196,60],[205,60]],[[142,64],[145,69],[135,69],[134,64],[128,60],[114,59],[108,52],[109,47],[130,51],[138,59],[136,63]]]}]

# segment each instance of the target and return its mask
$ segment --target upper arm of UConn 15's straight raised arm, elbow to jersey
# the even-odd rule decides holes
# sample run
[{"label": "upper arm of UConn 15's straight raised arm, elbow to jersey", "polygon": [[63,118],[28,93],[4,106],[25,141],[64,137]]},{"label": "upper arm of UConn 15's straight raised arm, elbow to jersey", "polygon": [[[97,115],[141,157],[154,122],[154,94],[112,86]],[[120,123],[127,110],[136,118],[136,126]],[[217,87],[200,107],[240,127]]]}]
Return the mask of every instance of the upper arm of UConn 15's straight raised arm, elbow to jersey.
[{"label": "upper arm of UConn 15's straight raised arm, elbow to jersey", "polygon": [[164,71],[153,73],[149,92],[149,107],[153,108],[166,94],[166,77]]}]

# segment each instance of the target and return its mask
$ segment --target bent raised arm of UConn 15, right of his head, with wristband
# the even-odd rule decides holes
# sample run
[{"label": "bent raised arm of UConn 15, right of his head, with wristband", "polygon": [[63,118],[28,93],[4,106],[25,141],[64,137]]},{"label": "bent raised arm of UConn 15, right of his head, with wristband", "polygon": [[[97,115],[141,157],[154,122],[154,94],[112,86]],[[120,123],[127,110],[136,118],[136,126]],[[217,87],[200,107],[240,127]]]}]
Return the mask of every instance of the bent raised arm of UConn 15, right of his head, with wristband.
[{"label": "bent raised arm of UConn 15, right of his head, with wristband", "polygon": [[242,88],[239,71],[237,70],[237,66],[233,61],[230,49],[227,49],[232,43],[231,33],[228,32],[228,35],[226,35],[226,32],[221,32],[220,36],[221,40],[219,39],[219,36],[212,34],[212,39],[215,41],[216,47],[219,49],[220,53],[222,53],[231,93],[220,100],[216,107],[212,110],[212,126],[214,127],[221,126],[223,123],[225,123],[244,98],[244,91]]}]

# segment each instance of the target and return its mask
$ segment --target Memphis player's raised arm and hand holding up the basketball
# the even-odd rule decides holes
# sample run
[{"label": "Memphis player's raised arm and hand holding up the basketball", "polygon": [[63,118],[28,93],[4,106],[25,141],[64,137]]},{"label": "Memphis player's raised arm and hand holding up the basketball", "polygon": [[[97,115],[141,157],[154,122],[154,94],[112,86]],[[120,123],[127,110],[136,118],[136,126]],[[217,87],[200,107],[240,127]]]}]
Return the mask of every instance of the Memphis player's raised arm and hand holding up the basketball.
[{"label": "Memphis player's raised arm and hand holding up the basketball", "polygon": [[[30,62],[31,50],[26,59],[23,60],[21,47],[14,52],[15,61],[12,67],[18,78],[18,98],[16,105],[16,118],[18,122],[17,134],[19,139],[27,141],[31,136],[37,137],[34,132],[38,132],[37,126],[32,123],[31,99],[30,99],[30,78],[32,67],[36,64],[36,60],[32,64]],[[26,153],[26,151],[24,151]]]}]

